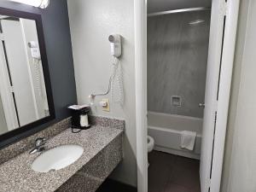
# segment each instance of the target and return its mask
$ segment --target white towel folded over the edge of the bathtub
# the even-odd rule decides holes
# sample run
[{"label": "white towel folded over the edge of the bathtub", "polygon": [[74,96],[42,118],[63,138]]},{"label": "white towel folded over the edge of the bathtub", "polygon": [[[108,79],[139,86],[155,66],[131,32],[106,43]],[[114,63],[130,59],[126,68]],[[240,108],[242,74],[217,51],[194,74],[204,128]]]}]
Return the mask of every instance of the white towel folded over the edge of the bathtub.
[{"label": "white towel folded over the edge of the bathtub", "polygon": [[180,147],[187,148],[190,151],[192,151],[195,146],[195,137],[196,137],[196,132],[194,131],[182,131]]}]

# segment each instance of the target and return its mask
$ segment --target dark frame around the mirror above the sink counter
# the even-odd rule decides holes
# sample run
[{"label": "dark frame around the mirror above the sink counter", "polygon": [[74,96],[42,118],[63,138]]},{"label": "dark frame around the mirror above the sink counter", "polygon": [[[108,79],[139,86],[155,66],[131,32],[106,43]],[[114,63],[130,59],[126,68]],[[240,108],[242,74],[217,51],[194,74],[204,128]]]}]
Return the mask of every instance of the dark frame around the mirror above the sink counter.
[{"label": "dark frame around the mirror above the sink counter", "polygon": [[[29,134],[29,133],[22,134],[22,133],[25,133],[26,131],[30,131],[38,127],[39,125],[44,125],[45,123],[55,119],[55,106],[54,106],[53,95],[52,95],[51,84],[50,84],[49,66],[48,66],[46,48],[44,43],[44,30],[43,30],[41,15],[30,13],[30,12],[24,12],[20,10],[15,10],[15,9],[6,9],[6,8],[0,8],[0,15],[8,15],[8,16],[13,16],[17,18],[35,20],[37,32],[38,32],[38,44],[39,44],[42,66],[43,66],[43,73],[44,73],[44,84],[45,84],[45,90],[46,90],[48,106],[49,106],[49,116],[43,119],[38,119],[30,124],[20,126],[15,130],[8,131],[0,135],[0,148],[4,148],[11,143],[16,143],[20,141],[20,139],[34,134],[35,131],[32,134]],[[44,128],[37,129],[36,132],[41,131],[43,129]],[[8,141],[8,140],[12,140],[12,141]]]}]

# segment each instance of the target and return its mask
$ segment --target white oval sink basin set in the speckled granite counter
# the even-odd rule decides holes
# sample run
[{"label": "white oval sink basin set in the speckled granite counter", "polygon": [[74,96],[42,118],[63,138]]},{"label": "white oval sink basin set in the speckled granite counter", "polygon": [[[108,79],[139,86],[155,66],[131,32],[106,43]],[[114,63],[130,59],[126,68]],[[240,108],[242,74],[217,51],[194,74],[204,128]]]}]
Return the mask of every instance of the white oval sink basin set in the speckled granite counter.
[{"label": "white oval sink basin set in the speckled granite counter", "polygon": [[40,154],[32,162],[32,170],[35,172],[49,172],[51,170],[60,170],[73,164],[83,154],[84,148],[79,145],[68,144],[51,148]]}]

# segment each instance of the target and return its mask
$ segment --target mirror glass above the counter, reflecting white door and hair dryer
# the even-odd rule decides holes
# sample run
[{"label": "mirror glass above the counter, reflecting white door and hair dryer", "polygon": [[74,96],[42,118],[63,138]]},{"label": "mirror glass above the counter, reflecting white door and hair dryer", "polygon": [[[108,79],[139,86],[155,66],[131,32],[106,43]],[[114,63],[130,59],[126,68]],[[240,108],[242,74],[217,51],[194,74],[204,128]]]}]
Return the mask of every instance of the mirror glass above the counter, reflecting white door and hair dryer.
[{"label": "mirror glass above the counter, reflecting white door and hair dryer", "polygon": [[49,116],[35,20],[0,15],[0,135]]}]

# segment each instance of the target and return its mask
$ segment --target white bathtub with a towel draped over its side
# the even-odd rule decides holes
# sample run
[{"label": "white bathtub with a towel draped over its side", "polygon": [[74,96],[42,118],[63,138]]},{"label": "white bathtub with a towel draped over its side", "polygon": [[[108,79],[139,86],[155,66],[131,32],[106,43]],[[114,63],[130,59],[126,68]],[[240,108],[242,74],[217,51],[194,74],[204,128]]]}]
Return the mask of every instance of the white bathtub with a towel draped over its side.
[{"label": "white bathtub with a towel draped over its side", "polygon": [[[148,112],[148,135],[154,138],[154,150],[200,159],[202,119],[182,115]],[[195,131],[193,151],[180,148],[181,131]]]}]

